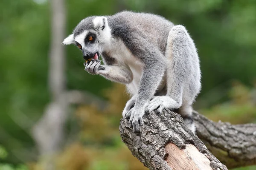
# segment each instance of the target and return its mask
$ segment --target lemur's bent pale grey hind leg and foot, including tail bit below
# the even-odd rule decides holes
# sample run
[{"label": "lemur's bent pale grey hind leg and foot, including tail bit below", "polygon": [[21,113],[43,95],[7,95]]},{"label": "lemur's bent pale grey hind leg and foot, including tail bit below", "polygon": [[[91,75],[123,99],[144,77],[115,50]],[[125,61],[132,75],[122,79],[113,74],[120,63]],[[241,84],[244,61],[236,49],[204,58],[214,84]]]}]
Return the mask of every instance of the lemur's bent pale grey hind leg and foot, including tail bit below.
[{"label": "lemur's bent pale grey hind leg and foot, including tail bit below", "polygon": [[157,109],[178,109],[186,125],[195,132],[193,125],[192,103],[200,90],[199,59],[195,44],[183,26],[174,26],[169,32],[166,46],[166,96],[155,96],[146,108],[147,111]]}]

